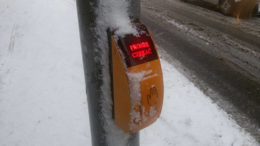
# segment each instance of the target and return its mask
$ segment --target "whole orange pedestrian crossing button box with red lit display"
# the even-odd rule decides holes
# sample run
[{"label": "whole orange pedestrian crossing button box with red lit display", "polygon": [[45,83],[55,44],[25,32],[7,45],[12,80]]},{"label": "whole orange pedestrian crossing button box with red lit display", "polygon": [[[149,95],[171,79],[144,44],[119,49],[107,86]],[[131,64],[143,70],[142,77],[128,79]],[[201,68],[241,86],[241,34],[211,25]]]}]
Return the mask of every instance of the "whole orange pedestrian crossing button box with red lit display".
[{"label": "whole orange pedestrian crossing button box with red lit display", "polygon": [[126,133],[157,120],[164,94],[161,63],[151,34],[143,24],[132,25],[138,35],[110,36],[113,115]]}]

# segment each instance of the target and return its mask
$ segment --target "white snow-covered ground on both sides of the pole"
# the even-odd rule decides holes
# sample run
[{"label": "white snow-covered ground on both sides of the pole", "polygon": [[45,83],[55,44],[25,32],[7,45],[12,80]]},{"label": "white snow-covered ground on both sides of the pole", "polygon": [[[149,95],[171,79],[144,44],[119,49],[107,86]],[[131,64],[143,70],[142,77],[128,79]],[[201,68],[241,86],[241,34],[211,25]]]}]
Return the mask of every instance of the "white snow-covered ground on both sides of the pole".
[{"label": "white snow-covered ground on both sides of the pole", "polygon": [[[257,146],[253,137],[161,60],[164,105],[140,145]],[[91,145],[76,4],[0,2],[0,146]]]}]

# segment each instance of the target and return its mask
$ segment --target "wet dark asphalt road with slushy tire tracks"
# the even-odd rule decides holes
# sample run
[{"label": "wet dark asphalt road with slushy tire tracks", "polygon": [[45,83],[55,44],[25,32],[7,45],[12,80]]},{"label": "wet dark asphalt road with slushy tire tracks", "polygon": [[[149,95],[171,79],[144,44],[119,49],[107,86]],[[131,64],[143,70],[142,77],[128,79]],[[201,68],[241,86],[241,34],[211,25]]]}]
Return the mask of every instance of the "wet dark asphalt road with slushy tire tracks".
[{"label": "wet dark asphalt road with slushy tire tracks", "polygon": [[259,142],[260,18],[223,16],[214,5],[197,1],[143,0],[141,22],[167,54],[162,58]]}]

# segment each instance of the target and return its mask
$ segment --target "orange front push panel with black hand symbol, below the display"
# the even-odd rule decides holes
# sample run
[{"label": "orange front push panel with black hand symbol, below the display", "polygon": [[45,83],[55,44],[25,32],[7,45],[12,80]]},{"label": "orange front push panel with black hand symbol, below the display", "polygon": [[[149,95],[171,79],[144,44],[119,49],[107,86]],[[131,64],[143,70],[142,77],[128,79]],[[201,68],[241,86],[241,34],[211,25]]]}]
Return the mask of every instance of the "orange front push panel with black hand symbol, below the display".
[{"label": "orange front push panel with black hand symbol, below the display", "polygon": [[140,81],[141,101],[140,105],[134,108],[136,113],[140,113],[141,119],[138,122],[134,119],[132,123],[135,128],[130,132],[139,131],[156,122],[162,110],[164,86],[159,59],[128,68],[132,73],[143,70],[150,73]]}]

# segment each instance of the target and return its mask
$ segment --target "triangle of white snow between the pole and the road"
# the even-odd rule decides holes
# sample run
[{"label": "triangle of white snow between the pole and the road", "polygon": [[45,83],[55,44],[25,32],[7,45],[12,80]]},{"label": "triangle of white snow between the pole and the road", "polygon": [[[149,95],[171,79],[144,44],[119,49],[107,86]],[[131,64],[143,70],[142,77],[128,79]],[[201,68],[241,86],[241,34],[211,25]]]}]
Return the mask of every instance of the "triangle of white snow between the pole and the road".
[{"label": "triangle of white snow between the pole and the road", "polygon": [[141,144],[258,145],[253,137],[171,64],[161,59],[161,65],[164,77],[163,109],[157,122],[141,131]]}]

